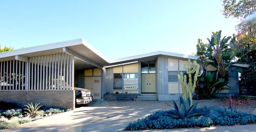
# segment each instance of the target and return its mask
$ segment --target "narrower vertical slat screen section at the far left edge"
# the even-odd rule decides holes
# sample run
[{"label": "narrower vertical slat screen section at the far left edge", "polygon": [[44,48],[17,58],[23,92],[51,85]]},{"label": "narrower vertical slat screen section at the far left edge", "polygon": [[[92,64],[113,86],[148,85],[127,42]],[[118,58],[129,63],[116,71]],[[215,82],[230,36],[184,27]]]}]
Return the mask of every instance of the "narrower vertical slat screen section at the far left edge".
[{"label": "narrower vertical slat screen section at the far left edge", "polygon": [[27,62],[20,60],[8,60],[0,62],[0,90],[16,91],[25,90]]}]

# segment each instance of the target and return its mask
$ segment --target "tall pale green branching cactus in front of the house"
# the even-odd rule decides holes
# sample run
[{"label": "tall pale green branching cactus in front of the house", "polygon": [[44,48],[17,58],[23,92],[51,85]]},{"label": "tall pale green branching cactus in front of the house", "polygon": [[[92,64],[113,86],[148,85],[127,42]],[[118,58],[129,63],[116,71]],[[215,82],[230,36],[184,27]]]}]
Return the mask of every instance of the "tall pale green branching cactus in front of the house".
[{"label": "tall pale green branching cactus in front of the house", "polygon": [[[188,75],[188,80],[189,80],[188,82],[187,82],[187,75],[183,75],[182,72],[180,72],[177,76],[178,76],[178,80],[181,82],[183,98],[187,99],[189,96],[192,104],[192,93],[195,91],[197,77],[200,77],[203,74],[203,70],[200,72],[200,65],[197,64],[195,60],[194,62],[191,62],[190,59],[188,59],[188,65],[185,65],[185,70]],[[192,81],[192,74],[194,74],[193,81]]]}]

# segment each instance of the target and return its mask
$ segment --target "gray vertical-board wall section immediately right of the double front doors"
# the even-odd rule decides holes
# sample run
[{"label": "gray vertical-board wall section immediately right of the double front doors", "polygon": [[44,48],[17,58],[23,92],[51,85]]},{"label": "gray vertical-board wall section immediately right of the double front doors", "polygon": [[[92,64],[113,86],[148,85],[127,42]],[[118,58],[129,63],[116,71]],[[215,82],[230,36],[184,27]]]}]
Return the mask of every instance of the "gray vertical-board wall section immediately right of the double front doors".
[{"label": "gray vertical-board wall section immediately right of the double front doors", "polygon": [[168,58],[159,56],[156,61],[156,91],[158,94],[168,94]]}]

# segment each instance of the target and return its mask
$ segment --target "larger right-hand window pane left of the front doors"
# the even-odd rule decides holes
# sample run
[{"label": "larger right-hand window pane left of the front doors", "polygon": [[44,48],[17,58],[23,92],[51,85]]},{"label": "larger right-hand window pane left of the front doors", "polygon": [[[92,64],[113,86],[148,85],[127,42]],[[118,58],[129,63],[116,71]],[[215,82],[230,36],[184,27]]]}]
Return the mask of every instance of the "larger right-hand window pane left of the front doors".
[{"label": "larger right-hand window pane left of the front doors", "polygon": [[139,74],[138,73],[124,73],[124,88],[138,89],[139,88]]}]

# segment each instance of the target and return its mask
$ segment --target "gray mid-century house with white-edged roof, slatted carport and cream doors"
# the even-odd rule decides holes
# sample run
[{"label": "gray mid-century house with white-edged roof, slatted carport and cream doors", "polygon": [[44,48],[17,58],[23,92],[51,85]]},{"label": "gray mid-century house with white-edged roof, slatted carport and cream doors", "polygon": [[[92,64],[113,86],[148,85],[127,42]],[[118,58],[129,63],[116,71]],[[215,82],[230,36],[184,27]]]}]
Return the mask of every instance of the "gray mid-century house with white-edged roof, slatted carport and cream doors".
[{"label": "gray mid-century house with white-edged roof, slatted carport and cream doors", "polygon": [[[109,61],[84,39],[3,52],[0,101],[74,108],[74,87],[90,89],[95,100],[175,100],[188,59],[197,57],[158,51]],[[238,94],[238,73],[229,80],[220,94]]]}]

